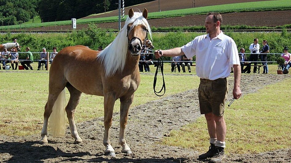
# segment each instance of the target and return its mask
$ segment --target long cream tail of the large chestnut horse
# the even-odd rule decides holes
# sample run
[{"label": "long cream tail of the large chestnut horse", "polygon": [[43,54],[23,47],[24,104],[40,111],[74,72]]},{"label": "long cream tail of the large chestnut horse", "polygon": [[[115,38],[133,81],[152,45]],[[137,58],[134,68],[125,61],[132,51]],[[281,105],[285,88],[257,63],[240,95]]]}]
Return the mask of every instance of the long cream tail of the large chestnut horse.
[{"label": "long cream tail of the large chestnut horse", "polygon": [[53,136],[64,136],[66,129],[66,92],[65,89],[59,94],[50,115],[48,127]]}]

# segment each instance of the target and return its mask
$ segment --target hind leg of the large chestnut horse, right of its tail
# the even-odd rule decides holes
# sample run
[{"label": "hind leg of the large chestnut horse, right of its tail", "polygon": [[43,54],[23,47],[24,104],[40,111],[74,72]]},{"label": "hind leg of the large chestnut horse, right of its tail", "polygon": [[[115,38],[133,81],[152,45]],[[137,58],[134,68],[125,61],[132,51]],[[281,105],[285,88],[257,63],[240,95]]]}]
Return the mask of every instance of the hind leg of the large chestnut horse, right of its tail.
[{"label": "hind leg of the large chestnut horse, right of its tail", "polygon": [[77,144],[83,141],[78,134],[77,127],[75,124],[74,114],[75,114],[75,109],[77,105],[79,104],[82,92],[80,92],[78,89],[73,87],[70,83],[68,83],[66,87],[70,92],[70,99],[69,99],[68,105],[66,106],[66,112],[67,112],[67,117],[70,124],[71,136],[75,139],[74,143]]}]

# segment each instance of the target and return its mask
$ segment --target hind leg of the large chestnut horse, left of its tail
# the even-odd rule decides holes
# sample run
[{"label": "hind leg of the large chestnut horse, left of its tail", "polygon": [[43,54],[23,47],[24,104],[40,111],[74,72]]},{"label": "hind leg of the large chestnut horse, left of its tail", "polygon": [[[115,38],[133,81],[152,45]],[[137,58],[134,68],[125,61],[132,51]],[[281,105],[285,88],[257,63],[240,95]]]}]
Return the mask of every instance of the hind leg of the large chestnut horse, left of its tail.
[{"label": "hind leg of the large chestnut horse, left of its tail", "polygon": [[45,112],[44,112],[44,119],[43,119],[43,126],[42,126],[42,139],[39,141],[42,144],[46,144],[48,143],[47,141],[47,124],[48,124],[48,120],[50,117],[50,114],[53,112],[53,106],[54,103],[56,102],[58,95],[62,92],[62,90],[65,88],[65,86],[61,89],[62,87],[54,87],[54,89],[50,89],[49,92],[49,97],[48,100],[46,102],[46,106],[45,106]]}]

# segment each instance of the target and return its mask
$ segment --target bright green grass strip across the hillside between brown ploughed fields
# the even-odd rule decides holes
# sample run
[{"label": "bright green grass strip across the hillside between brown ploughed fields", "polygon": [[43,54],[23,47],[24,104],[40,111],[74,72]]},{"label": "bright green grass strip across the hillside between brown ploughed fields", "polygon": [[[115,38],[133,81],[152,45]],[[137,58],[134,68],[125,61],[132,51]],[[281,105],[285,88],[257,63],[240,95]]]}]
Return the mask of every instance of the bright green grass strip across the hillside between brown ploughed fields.
[{"label": "bright green grass strip across the hillside between brown ploughed fields", "polygon": [[[230,12],[272,11],[272,10],[289,10],[289,9],[291,9],[291,3],[289,0],[245,2],[245,3],[234,3],[234,4],[154,12],[154,13],[149,13],[148,19],[178,17],[178,16],[186,16],[186,15],[199,15],[199,14],[206,14],[209,12],[230,13]],[[125,21],[125,20],[126,20],[126,17],[122,18],[122,21]],[[118,21],[118,17],[102,17],[102,18],[91,18],[91,19],[78,19],[77,24],[104,23],[104,22],[116,22],[116,21]],[[1,26],[0,29],[9,30],[9,28],[10,29],[34,28],[34,27],[42,27],[42,26],[54,26],[54,25],[71,25],[71,20],[35,23],[35,24],[22,24],[22,25],[13,25],[13,26]]]}]

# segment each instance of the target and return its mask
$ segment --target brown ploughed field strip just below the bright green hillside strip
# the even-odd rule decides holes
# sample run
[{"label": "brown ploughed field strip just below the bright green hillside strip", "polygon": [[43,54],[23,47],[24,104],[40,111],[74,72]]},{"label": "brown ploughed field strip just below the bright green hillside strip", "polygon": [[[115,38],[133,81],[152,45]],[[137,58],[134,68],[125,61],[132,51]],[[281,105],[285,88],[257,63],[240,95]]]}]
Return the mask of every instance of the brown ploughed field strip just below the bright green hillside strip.
[{"label": "brown ploughed field strip just below the bright green hillside strip", "polygon": [[[291,15],[291,10],[286,11],[262,11],[247,13],[225,13],[222,15],[223,25],[249,25],[249,26],[267,26],[275,27],[278,25],[291,24],[291,19],[286,15]],[[194,15],[185,17],[172,17],[164,19],[149,19],[149,25],[154,27],[173,27],[173,26],[195,26],[204,25],[205,15]],[[256,19],[254,19],[256,17]],[[268,21],[266,21],[266,19]],[[99,28],[118,29],[118,22],[98,23]],[[124,22],[122,22],[122,26]],[[71,31],[71,25],[50,26],[43,28],[27,28],[18,31]],[[88,28],[87,24],[77,25],[77,30]]]}]

